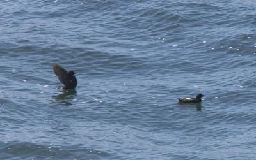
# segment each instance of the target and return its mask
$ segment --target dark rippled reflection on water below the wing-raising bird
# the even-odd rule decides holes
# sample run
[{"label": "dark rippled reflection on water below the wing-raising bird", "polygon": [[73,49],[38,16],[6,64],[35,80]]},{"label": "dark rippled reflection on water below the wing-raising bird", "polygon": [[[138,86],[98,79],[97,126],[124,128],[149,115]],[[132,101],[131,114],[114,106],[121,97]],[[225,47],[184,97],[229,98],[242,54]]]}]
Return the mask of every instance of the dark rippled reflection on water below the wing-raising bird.
[{"label": "dark rippled reflection on water below the wing-raising bird", "polygon": [[51,97],[53,99],[51,103],[58,105],[72,105],[76,96],[76,89],[63,89],[60,94],[56,94],[55,96]]}]

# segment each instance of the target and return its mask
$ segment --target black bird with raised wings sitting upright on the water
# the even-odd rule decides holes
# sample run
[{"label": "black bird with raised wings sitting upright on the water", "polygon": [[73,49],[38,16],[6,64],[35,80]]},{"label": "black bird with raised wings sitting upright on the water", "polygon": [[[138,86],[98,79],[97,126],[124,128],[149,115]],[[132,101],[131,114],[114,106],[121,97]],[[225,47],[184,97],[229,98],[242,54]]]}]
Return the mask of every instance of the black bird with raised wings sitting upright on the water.
[{"label": "black bird with raised wings sitting upright on the water", "polygon": [[53,65],[53,71],[62,84],[64,84],[65,89],[74,89],[77,85],[77,79],[74,76],[76,74],[74,71],[66,71],[62,66],[58,64]]}]

